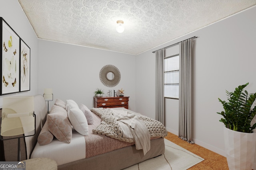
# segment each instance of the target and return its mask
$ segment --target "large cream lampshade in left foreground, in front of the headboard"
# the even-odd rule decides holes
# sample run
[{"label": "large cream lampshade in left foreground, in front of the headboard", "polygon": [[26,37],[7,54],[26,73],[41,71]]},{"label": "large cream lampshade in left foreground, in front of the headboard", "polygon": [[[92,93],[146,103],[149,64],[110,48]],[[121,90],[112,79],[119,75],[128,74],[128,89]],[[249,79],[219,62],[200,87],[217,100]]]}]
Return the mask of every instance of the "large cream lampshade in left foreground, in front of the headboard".
[{"label": "large cream lampshade in left foreground, in front of the headboard", "polygon": [[35,129],[34,97],[18,96],[3,98],[2,136],[26,134]]}]

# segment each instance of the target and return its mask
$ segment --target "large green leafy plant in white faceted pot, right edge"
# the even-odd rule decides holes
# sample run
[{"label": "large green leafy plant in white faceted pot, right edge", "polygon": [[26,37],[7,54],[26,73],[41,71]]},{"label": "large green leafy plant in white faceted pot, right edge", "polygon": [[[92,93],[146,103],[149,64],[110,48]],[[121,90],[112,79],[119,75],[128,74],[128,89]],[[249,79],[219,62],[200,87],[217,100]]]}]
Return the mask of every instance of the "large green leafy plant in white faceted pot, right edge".
[{"label": "large green leafy plant in white faceted pot, right edge", "polygon": [[252,125],[252,119],[256,115],[256,106],[253,107],[256,93],[248,94],[244,88],[249,83],[238,86],[234,92],[228,92],[228,102],[222,103],[224,111],[217,112],[224,118],[224,141],[226,158],[230,170],[252,170],[254,161],[256,123]]}]

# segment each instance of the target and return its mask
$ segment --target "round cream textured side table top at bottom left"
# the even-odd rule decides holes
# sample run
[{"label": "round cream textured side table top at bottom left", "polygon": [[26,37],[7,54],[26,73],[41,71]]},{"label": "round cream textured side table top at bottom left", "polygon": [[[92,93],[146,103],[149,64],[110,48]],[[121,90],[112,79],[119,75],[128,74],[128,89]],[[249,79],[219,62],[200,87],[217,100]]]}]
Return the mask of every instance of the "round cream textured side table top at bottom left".
[{"label": "round cream textured side table top at bottom left", "polygon": [[56,161],[50,158],[32,158],[22,162],[26,162],[26,170],[58,170]]}]

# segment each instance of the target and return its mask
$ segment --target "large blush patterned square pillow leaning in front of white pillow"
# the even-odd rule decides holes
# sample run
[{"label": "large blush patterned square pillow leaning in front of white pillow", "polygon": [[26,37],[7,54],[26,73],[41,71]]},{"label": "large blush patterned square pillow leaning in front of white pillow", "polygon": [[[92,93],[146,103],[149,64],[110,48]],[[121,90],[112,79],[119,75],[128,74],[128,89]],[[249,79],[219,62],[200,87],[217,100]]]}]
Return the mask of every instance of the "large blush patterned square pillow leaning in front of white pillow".
[{"label": "large blush patterned square pillow leaning in front of white pillow", "polygon": [[70,143],[72,138],[72,126],[68,115],[51,113],[47,115],[49,131],[61,142]]}]

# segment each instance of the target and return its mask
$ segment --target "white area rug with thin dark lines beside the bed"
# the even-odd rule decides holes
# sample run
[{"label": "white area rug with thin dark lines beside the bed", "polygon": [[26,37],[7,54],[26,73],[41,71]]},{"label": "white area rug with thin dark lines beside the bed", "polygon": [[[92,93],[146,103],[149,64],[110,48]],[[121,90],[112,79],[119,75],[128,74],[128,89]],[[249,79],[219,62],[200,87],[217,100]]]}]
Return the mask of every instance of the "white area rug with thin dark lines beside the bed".
[{"label": "white area rug with thin dark lines beside the bed", "polygon": [[135,164],[124,170],[186,170],[204,159],[164,139],[165,152],[161,156]]}]

